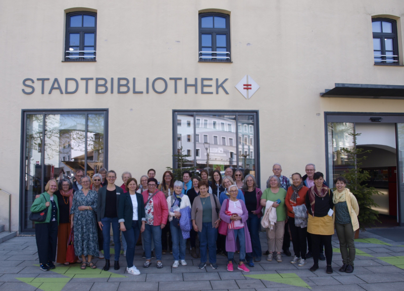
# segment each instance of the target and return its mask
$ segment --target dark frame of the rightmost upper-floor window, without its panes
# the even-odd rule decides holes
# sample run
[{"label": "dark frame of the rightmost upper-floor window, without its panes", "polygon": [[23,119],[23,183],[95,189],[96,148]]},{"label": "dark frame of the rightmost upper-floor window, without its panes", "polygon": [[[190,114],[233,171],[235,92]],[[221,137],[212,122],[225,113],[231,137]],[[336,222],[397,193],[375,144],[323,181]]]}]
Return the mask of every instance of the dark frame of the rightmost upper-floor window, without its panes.
[{"label": "dark frame of the rightmost upper-floor window, without its panes", "polygon": [[[393,60],[397,61],[397,62],[392,62],[392,63],[388,63],[386,61],[386,57],[381,57],[382,61],[381,62],[374,62],[376,66],[398,66],[399,63],[399,54],[398,54],[398,34],[397,34],[397,21],[391,18],[382,18],[382,17],[378,17],[378,18],[372,18],[372,23],[376,22],[376,21],[385,21],[385,22],[390,22],[391,23],[391,28],[392,28],[392,32],[391,33],[387,33],[387,32],[373,32],[372,29],[372,40],[373,38],[380,38],[381,41],[381,51],[382,51],[382,55],[386,55],[386,47],[385,47],[385,42],[384,42],[384,38],[392,38],[393,39],[393,55],[397,56],[394,57]],[[383,31],[383,30],[382,30]],[[372,43],[373,45],[373,43]],[[374,49],[373,49],[374,51]],[[374,59],[374,58],[373,58]]]}]

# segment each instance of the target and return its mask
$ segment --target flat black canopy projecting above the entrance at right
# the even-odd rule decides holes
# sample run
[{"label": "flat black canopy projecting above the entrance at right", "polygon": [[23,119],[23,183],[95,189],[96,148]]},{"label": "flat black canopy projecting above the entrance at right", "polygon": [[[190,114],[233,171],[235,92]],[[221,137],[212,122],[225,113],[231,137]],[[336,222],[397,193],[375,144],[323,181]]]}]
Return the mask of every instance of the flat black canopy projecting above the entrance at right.
[{"label": "flat black canopy projecting above the entrance at right", "polygon": [[335,83],[335,87],[333,89],[325,89],[325,92],[320,93],[320,96],[371,99],[404,99],[404,86]]}]

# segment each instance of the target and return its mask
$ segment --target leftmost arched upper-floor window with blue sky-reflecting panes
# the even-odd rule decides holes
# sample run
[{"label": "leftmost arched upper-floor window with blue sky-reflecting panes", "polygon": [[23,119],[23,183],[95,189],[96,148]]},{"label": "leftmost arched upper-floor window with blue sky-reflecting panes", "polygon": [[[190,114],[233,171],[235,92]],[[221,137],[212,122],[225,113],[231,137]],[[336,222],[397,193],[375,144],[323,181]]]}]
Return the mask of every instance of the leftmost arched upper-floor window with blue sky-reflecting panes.
[{"label": "leftmost arched upper-floor window with blue sky-reflecting panes", "polygon": [[66,14],[67,62],[95,62],[97,14],[71,12]]}]

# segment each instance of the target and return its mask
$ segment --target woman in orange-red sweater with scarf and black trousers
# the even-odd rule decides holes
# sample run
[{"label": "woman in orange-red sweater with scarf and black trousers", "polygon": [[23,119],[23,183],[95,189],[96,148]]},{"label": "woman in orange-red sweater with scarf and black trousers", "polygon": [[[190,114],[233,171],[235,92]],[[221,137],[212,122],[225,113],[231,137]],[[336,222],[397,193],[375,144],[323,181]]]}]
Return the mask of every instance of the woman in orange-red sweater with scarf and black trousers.
[{"label": "woman in orange-red sweater with scarf and black trousers", "polygon": [[[306,250],[307,250],[307,220],[306,226],[295,224],[293,207],[304,205],[306,203],[306,193],[309,190],[302,181],[299,173],[292,175],[292,186],[287,189],[285,205],[289,220],[290,233],[293,241],[294,258],[290,263],[297,264],[302,267],[306,265]],[[301,206],[300,206],[301,207]],[[307,212],[304,211],[305,213]],[[307,216],[307,215],[306,215]]]}]

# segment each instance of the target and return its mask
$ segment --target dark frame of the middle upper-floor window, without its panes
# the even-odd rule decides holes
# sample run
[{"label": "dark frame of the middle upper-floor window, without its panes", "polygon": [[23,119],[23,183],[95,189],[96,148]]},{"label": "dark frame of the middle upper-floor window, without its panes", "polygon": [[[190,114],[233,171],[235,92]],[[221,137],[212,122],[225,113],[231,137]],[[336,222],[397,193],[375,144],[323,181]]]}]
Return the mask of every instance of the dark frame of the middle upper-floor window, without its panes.
[{"label": "dark frame of the middle upper-floor window, without its panes", "polygon": [[[226,18],[226,28],[202,28],[202,17],[205,16],[220,16]],[[202,34],[203,33],[211,33],[212,34],[212,52],[217,52],[216,45],[216,34],[226,34],[226,57],[229,59],[201,59],[201,54],[199,52],[202,51]],[[199,13],[198,16],[198,61],[199,62],[211,62],[211,63],[231,63],[231,42],[230,42],[230,15],[219,12],[205,12]],[[212,54],[212,57],[217,57],[217,54]]]}]

